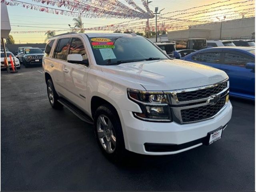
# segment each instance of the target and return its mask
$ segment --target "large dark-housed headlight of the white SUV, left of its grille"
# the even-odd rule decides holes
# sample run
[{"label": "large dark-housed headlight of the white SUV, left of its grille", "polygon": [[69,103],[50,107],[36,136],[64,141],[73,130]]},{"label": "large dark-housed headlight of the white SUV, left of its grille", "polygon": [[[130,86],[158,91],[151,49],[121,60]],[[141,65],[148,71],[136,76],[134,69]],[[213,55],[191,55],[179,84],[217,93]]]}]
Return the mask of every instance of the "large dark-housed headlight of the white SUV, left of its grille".
[{"label": "large dark-housed headlight of the white SUV, left of its grille", "polygon": [[127,89],[128,98],[136,102],[142,113],[133,112],[141,120],[170,122],[171,112],[167,95],[159,91]]}]

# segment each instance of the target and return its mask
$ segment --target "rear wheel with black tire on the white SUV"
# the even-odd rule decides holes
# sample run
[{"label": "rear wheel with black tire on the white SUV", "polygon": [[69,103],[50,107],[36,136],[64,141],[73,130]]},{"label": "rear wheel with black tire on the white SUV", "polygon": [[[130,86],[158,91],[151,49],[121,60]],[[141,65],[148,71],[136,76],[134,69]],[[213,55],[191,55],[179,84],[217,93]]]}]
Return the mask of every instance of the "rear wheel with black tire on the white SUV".
[{"label": "rear wheel with black tire on the white SUV", "polygon": [[54,89],[52,80],[48,79],[46,85],[47,85],[47,95],[48,95],[50,105],[54,109],[58,109],[58,110],[62,109],[63,105],[58,102],[59,96]]}]

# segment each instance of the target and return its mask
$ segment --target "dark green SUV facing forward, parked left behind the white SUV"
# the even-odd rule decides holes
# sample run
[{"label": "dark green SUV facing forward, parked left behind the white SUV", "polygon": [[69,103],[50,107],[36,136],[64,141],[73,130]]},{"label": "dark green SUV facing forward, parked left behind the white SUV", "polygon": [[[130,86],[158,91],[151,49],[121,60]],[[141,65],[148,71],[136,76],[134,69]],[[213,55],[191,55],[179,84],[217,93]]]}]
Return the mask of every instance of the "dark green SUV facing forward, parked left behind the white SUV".
[{"label": "dark green SUV facing forward, parked left behind the white SUV", "polygon": [[26,68],[32,65],[42,65],[44,53],[40,48],[24,48],[23,53],[22,62]]}]

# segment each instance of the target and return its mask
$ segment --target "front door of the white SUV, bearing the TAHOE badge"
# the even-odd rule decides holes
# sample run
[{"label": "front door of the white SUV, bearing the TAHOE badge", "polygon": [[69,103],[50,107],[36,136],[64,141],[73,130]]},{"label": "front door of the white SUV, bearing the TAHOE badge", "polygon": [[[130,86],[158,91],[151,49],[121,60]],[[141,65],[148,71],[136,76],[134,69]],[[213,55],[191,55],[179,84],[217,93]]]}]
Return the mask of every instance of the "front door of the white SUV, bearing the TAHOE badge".
[{"label": "front door of the white SUV, bearing the TAHOE badge", "polygon": [[[86,52],[84,39],[80,36],[72,38],[68,54],[81,54],[83,61],[88,61]],[[63,70],[65,87],[68,89],[66,94],[68,100],[86,112],[86,83],[89,64],[66,62]]]}]

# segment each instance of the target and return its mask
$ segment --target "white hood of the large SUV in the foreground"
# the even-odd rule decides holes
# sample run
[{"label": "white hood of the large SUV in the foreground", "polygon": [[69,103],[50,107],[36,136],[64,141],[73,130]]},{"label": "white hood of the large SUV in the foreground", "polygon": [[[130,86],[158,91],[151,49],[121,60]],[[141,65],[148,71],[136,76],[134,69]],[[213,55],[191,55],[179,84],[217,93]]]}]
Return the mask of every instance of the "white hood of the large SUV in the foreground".
[{"label": "white hood of the large SUV in the foreground", "polygon": [[176,59],[102,66],[102,72],[141,84],[146,90],[163,91],[205,86],[228,78],[222,70]]}]

